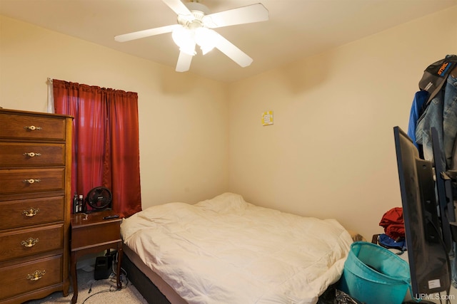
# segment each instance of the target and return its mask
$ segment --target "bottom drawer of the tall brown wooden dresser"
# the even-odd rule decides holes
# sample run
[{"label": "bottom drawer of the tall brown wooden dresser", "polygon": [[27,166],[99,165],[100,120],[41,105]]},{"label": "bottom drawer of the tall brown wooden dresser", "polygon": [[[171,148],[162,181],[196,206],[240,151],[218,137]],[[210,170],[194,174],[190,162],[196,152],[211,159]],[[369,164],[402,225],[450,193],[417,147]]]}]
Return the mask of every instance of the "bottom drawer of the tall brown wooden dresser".
[{"label": "bottom drawer of the tall brown wooden dresser", "polygon": [[62,256],[0,268],[0,300],[62,281]]}]

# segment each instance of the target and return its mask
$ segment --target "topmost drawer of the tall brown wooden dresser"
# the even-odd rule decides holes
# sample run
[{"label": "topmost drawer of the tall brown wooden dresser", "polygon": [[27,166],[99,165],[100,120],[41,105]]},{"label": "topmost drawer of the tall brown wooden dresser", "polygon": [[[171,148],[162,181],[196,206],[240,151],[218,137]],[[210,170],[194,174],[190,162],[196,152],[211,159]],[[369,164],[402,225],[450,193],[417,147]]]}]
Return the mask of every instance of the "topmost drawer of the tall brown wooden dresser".
[{"label": "topmost drawer of the tall brown wooden dresser", "polygon": [[0,113],[0,137],[65,140],[65,117]]}]

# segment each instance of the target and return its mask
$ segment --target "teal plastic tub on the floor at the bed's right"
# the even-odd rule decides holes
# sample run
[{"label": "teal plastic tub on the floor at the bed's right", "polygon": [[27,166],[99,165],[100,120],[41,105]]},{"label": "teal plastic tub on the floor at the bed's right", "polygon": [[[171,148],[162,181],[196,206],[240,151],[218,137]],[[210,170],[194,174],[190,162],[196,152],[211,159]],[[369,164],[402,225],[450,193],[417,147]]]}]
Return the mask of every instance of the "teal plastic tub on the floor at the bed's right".
[{"label": "teal plastic tub on the floor at the bed's right", "polygon": [[344,263],[339,289],[367,304],[401,304],[410,288],[409,265],[374,243],[358,241]]}]

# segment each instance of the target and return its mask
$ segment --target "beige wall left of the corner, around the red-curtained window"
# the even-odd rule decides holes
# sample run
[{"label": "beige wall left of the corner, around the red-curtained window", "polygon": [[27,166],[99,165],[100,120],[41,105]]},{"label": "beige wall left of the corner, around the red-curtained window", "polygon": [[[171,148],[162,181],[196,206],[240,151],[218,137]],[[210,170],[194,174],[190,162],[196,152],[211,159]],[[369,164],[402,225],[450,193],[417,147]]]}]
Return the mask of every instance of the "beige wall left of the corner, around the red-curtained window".
[{"label": "beige wall left of the corner, around the red-curtained window", "polygon": [[48,77],[138,93],[144,207],[228,189],[226,84],[1,16],[0,43],[3,108],[46,112]]}]

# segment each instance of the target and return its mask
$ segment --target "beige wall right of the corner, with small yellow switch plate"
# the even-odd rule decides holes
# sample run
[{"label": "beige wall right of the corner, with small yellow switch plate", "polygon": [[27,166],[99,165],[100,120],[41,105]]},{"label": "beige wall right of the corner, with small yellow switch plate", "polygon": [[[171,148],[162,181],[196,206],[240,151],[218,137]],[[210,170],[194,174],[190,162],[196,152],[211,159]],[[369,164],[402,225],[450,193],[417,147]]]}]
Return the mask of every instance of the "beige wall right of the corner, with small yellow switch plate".
[{"label": "beige wall right of the corner, with small yellow switch plate", "polygon": [[[366,238],[401,206],[393,127],[407,130],[426,66],[457,53],[457,6],[230,88],[230,189],[333,217]],[[273,110],[274,125],[261,125]]]}]

